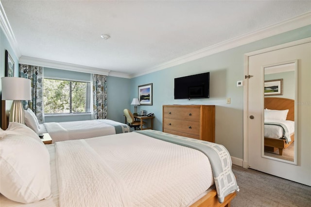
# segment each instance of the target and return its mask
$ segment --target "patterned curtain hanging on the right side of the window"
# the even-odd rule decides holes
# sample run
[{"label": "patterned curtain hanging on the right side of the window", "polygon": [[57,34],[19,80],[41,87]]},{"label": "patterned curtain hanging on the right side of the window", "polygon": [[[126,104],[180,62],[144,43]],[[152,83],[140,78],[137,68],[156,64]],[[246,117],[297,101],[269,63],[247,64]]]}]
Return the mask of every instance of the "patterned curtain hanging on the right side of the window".
[{"label": "patterned curtain hanging on the right side of the window", "polygon": [[107,76],[93,74],[93,119],[107,118]]}]

